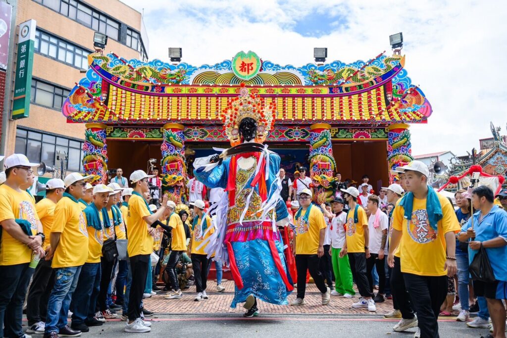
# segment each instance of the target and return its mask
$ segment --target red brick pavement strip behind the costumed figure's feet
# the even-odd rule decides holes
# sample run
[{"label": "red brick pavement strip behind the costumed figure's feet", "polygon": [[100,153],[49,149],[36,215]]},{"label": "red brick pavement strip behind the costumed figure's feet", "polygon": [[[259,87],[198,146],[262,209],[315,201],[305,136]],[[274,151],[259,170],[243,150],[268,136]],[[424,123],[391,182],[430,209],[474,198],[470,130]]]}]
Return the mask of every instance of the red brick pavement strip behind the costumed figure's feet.
[{"label": "red brick pavement strip behind the costumed figure's feet", "polygon": [[[243,313],[242,304],[236,309],[230,308],[234,297],[234,282],[227,281],[222,284],[225,292],[215,292],[216,283],[208,282],[209,299],[201,302],[194,302],[196,296],[195,286],[183,292],[179,299],[164,299],[164,294],[158,294],[144,299],[144,307],[159,314],[218,314],[218,313]],[[289,295],[291,302],[296,298],[296,290]],[[343,298],[342,296],[331,296],[329,305],[322,305],[321,293],[315,284],[309,284],[306,288],[304,306],[273,305],[259,302],[260,310],[264,314],[353,314],[353,315],[383,315],[392,311],[392,301],[386,299],[384,303],[377,303],[377,312],[369,312],[367,309],[352,309],[352,303],[357,302],[359,294],[354,298]]]}]

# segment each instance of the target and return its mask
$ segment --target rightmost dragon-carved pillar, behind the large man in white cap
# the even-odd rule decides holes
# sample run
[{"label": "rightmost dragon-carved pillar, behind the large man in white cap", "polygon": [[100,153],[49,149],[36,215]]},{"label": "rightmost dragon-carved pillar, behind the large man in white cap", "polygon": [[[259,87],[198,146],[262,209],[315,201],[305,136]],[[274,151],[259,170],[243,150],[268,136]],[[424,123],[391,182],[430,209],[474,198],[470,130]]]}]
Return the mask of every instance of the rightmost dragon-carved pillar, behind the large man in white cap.
[{"label": "rightmost dragon-carved pillar, behind the large man in white cap", "polygon": [[389,165],[389,182],[392,183],[394,175],[391,170],[406,165],[414,160],[412,157],[412,144],[410,143],[410,126],[405,123],[390,125],[387,130],[387,162]]}]

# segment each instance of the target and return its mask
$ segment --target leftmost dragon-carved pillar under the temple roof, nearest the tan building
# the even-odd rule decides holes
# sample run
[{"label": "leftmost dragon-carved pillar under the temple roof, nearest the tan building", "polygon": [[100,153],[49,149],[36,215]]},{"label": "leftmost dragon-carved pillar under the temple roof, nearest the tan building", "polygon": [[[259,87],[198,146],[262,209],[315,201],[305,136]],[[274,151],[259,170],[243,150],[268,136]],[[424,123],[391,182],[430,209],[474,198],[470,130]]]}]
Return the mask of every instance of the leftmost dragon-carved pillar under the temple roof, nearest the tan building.
[{"label": "leftmost dragon-carved pillar under the temple roof, nearest the tan building", "polygon": [[100,123],[88,123],[85,127],[84,171],[87,175],[94,176],[91,184],[105,183],[107,179],[106,126]]}]

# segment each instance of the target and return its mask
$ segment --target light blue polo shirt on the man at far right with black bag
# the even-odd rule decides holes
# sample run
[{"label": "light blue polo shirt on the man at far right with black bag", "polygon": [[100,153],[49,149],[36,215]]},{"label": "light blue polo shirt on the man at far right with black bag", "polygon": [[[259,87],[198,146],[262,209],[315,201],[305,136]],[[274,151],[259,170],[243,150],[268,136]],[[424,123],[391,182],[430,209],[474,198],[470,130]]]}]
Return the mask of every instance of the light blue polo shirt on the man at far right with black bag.
[{"label": "light blue polo shirt on the man at far right with black bag", "polygon": [[[493,238],[502,237],[507,241],[507,212],[498,206],[493,206],[491,211],[483,217],[479,222],[481,212],[474,214],[474,230],[476,232],[476,241],[487,241]],[[472,228],[470,219],[463,224],[461,231],[466,232],[468,228]],[[507,243],[506,243],[507,244]],[[468,259],[472,263],[478,250],[472,250],[468,247]],[[507,245],[499,248],[486,248],[489,262],[495,279],[499,281],[507,281]]]}]

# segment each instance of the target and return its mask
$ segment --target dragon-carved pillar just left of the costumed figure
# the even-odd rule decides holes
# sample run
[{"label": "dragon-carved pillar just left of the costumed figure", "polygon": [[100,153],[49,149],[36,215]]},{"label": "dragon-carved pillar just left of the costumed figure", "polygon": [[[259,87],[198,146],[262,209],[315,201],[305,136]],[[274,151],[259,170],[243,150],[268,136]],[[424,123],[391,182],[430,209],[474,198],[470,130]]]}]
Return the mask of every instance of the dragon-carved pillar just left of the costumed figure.
[{"label": "dragon-carved pillar just left of the costumed figure", "polygon": [[176,204],[185,203],[187,167],[185,165],[185,135],[183,125],[167,123],[164,125],[162,151],[162,194]]}]

